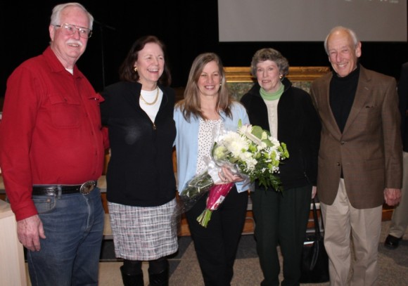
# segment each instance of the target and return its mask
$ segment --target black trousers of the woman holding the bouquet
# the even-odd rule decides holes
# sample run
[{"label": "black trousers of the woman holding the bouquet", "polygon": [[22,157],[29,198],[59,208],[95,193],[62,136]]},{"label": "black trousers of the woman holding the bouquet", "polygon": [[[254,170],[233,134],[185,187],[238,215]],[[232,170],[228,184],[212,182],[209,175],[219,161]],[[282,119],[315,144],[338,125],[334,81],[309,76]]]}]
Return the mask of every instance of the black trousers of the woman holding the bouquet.
[{"label": "black trousers of the woman holding the bouquet", "polygon": [[198,263],[205,286],[229,286],[248,205],[248,192],[238,193],[234,186],[219,208],[212,212],[207,228],[197,216],[205,209],[207,195],[186,212]]}]

